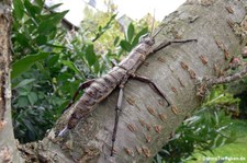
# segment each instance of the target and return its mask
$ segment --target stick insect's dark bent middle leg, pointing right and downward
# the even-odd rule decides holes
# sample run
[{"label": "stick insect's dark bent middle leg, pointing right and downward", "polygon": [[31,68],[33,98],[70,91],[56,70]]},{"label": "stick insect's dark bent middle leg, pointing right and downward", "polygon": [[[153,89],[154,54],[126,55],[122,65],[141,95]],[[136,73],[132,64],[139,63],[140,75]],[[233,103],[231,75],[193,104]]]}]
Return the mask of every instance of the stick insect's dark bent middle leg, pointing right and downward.
[{"label": "stick insect's dark bent middle leg, pointing right and downward", "polygon": [[132,77],[132,79],[135,79],[135,80],[142,81],[142,82],[148,83],[153,90],[155,90],[161,97],[164,97],[164,100],[167,102],[168,106],[170,106],[171,103],[168,101],[166,94],[164,94],[159,90],[159,88],[149,78],[143,77],[143,75],[138,75],[138,74],[132,74],[131,77]]}]

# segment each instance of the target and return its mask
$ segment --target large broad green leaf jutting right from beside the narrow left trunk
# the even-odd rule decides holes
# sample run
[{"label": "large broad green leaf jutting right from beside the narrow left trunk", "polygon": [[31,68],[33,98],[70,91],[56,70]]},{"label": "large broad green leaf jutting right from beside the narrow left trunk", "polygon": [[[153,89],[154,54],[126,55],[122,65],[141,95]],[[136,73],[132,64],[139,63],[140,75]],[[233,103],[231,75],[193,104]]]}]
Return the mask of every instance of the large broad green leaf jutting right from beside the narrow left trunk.
[{"label": "large broad green leaf jutting right from beside the narrow left trunk", "polygon": [[29,55],[23,57],[22,59],[15,61],[12,65],[12,72],[11,72],[11,79],[16,78],[21,73],[29,70],[29,68],[36,61],[43,60],[48,57],[48,53],[40,53],[37,55]]}]

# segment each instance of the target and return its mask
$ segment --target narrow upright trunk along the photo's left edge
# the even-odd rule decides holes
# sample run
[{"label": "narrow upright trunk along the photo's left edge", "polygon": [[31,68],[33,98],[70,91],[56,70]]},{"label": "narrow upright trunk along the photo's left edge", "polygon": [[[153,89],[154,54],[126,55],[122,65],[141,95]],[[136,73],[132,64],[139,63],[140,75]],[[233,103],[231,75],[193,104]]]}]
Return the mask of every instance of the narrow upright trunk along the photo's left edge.
[{"label": "narrow upright trunk along the photo's left edge", "polygon": [[0,1],[0,161],[21,162],[13,136],[10,85],[11,2]]}]

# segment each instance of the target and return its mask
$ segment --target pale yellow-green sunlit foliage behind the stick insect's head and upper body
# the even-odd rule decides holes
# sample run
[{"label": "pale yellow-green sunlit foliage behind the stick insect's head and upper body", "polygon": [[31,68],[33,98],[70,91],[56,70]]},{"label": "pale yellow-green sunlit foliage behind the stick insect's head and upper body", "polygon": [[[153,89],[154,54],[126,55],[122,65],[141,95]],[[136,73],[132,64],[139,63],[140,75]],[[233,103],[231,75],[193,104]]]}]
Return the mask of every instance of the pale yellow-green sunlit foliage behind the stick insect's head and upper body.
[{"label": "pale yellow-green sunlit foliage behind the stick insect's head and upper body", "polygon": [[[134,48],[138,44],[138,39],[142,35],[148,32],[147,25],[143,24],[137,26],[131,23],[127,28],[123,28],[116,21],[111,24],[111,30],[109,30],[109,24],[105,22],[108,19],[115,19],[116,8],[109,9],[111,12],[100,12],[94,13],[90,9],[86,8],[85,14],[87,15],[79,31],[79,35],[82,35],[87,42],[91,40],[94,49],[101,56],[101,60],[104,61],[104,72],[112,67],[112,61],[120,61],[123,56]],[[111,18],[111,15],[114,18]],[[102,26],[105,24],[105,26]],[[137,27],[136,27],[137,26]],[[102,35],[103,34],[103,35]],[[100,37],[99,37],[100,36]],[[78,38],[78,37],[77,37]]]}]

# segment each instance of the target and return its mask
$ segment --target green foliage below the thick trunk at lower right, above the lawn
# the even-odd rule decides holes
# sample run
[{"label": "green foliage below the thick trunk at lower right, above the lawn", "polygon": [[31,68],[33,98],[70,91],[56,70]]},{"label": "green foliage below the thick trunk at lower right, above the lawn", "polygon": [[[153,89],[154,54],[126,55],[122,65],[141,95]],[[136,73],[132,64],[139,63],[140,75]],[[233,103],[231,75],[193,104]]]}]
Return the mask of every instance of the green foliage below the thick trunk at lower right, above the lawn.
[{"label": "green foliage below the thick trunk at lower right, above the lawn", "polygon": [[239,100],[226,93],[223,85],[214,88],[207,101],[182,123],[154,162],[177,163],[194,160],[195,151],[204,154],[205,151],[213,152],[218,147],[234,142],[237,139],[236,132],[228,130],[233,120],[226,109],[222,108],[237,107],[238,103]]}]

